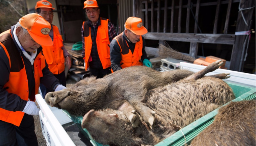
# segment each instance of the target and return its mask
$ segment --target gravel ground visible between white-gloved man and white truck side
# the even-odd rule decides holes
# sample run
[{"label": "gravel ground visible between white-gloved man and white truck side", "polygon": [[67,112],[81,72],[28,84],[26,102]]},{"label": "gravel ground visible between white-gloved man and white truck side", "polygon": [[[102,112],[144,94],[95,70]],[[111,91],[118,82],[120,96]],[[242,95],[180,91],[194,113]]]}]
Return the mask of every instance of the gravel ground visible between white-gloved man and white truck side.
[{"label": "gravel ground visible between white-gloved man and white truck side", "polygon": [[[67,78],[66,87],[68,88],[71,85],[73,85],[74,83],[76,83],[76,81]],[[36,104],[37,104],[37,102],[36,102]],[[44,136],[42,135],[42,129],[41,129],[39,115],[34,115],[34,120],[35,120],[35,134],[37,135],[38,145],[39,146],[46,146],[46,141],[44,139]]]}]

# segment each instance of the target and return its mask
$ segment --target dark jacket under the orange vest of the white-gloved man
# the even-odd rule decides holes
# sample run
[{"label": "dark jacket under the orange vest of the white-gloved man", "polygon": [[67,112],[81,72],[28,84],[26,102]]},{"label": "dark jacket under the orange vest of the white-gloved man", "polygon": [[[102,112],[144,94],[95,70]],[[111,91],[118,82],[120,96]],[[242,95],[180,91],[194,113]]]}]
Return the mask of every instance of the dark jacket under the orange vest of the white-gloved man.
[{"label": "dark jacket under the orange vest of the white-gloved man", "polygon": [[[11,35],[13,36],[14,26],[11,27]],[[27,73],[28,79],[28,89],[29,89],[29,98],[35,96],[35,78],[34,78],[34,65],[31,65],[30,61],[23,55],[20,48],[18,47],[16,40],[13,37],[13,40],[10,40],[10,43],[14,43],[17,48],[17,51],[20,53],[24,60],[25,70]],[[37,50],[37,55],[42,51],[42,47],[39,47]],[[42,70],[43,77],[41,77],[40,82],[44,84],[48,89],[54,91],[56,86],[59,85],[59,81],[55,76],[50,72],[47,63]],[[8,93],[3,86],[9,81],[10,74],[10,64],[8,57],[3,49],[0,46],[0,107],[9,110],[9,111],[23,111],[27,101],[20,99],[16,94]]]}]

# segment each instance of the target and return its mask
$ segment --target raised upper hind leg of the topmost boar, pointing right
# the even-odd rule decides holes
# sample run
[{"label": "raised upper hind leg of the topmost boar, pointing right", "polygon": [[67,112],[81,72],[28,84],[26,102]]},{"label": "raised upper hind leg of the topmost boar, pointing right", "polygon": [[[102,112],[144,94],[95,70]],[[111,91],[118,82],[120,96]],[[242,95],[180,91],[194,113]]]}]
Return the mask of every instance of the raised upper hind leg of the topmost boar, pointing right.
[{"label": "raised upper hind leg of the topmost boar, pointing right", "polygon": [[190,80],[190,79],[200,79],[202,78],[205,74],[207,74],[208,72],[212,72],[217,70],[221,65],[223,65],[223,62],[221,62],[221,60],[217,60],[213,63],[211,63],[210,65],[208,65],[206,68],[204,68],[201,71],[196,72],[195,74],[192,74],[190,76],[188,76],[187,78],[185,78],[184,80]]}]

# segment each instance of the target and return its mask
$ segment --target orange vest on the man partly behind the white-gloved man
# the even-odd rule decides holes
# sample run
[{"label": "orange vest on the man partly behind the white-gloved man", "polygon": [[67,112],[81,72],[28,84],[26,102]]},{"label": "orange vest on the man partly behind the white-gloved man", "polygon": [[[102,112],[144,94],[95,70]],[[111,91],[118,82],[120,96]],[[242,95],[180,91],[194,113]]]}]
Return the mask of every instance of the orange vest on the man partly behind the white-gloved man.
[{"label": "orange vest on the man partly behind the white-gloved man", "polygon": [[57,75],[65,70],[65,58],[63,55],[63,39],[59,34],[59,29],[57,26],[52,25],[53,31],[53,45],[52,46],[42,46],[44,57],[49,69],[52,74]]}]

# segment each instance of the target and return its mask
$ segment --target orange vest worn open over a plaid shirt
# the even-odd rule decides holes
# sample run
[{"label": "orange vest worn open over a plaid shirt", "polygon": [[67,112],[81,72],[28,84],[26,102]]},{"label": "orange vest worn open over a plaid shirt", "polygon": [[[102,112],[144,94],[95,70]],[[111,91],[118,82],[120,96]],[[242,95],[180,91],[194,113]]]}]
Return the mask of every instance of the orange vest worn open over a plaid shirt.
[{"label": "orange vest worn open over a plaid shirt", "polygon": [[[89,67],[89,58],[92,51],[92,38],[91,38],[91,27],[87,25],[87,22],[83,22],[83,32],[85,39],[85,70]],[[100,25],[98,26],[96,44],[97,50],[102,64],[103,69],[109,68],[110,62],[110,47],[109,47],[109,30],[108,30],[109,19],[100,18]]]}]

